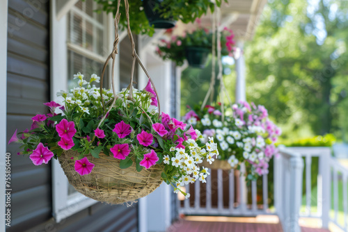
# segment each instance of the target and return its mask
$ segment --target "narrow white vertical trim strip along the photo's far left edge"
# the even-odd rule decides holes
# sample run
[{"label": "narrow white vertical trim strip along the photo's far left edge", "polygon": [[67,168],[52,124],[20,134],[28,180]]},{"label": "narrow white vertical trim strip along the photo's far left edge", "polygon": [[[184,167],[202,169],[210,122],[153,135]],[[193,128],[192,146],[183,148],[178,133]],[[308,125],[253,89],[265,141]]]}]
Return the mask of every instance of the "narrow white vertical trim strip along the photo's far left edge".
[{"label": "narrow white vertical trim strip along the photo's far left edge", "polygon": [[[7,15],[8,1],[0,1],[0,215],[5,215],[5,163],[6,163],[6,101],[7,101]],[[0,220],[0,231],[5,231],[5,220]]]}]

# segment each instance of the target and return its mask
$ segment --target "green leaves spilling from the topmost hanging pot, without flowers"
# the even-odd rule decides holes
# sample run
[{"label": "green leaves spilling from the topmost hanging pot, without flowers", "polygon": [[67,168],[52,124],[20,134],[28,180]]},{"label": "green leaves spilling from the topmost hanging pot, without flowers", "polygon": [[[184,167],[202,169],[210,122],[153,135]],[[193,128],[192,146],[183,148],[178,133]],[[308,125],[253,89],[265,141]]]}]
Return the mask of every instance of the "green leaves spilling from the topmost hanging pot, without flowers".
[{"label": "green leaves spilling from the topmost hanging pot, without flowers", "polygon": [[[116,15],[117,0],[95,0],[100,6],[100,10]],[[153,0],[152,0],[153,1]],[[194,22],[196,18],[205,15],[209,10],[214,12],[214,3],[209,0],[162,0],[153,1],[154,10],[161,14],[164,19],[181,20],[184,23]],[[221,0],[216,1],[217,6],[221,6]],[[120,1],[120,30],[127,31],[127,19],[125,14],[125,3]],[[152,36],[155,28],[150,26],[148,18],[143,10],[142,0],[129,0],[129,24],[135,34]]]}]

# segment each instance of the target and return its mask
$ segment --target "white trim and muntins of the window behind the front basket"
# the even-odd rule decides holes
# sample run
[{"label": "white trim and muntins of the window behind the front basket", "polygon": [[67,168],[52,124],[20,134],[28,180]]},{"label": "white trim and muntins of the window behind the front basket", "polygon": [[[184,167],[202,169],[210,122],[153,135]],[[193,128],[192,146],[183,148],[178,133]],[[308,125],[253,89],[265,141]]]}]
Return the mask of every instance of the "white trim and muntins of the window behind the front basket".
[{"label": "white trim and muntins of the window behind the front basket", "polygon": [[[83,56],[90,57],[91,51],[88,49],[82,49],[81,47],[74,46],[74,44],[68,43],[68,10],[65,10],[65,15],[59,15],[59,19],[56,15],[56,1],[52,0],[50,9],[50,28],[51,28],[51,88],[50,99],[51,101],[59,101],[56,97],[56,92],[60,90],[68,90],[68,47],[72,50],[79,49],[78,51]],[[72,5],[73,6],[73,5]],[[7,17],[6,17],[7,19]],[[112,49],[113,41],[113,17],[107,16],[108,23],[108,40],[109,49]],[[93,59],[95,60],[93,55]],[[116,56],[115,67],[115,84],[116,88],[119,86],[119,59]],[[98,61],[104,62],[105,58],[102,56],[97,57]],[[109,65],[109,74],[111,74],[111,65]],[[6,76],[6,75],[5,75]],[[109,75],[110,76],[110,75]],[[106,78],[106,77],[105,77]],[[109,78],[109,77],[107,77]],[[6,85],[3,85],[6,86]],[[6,99],[6,98],[5,98]],[[3,201],[4,202],[4,201]],[[52,203],[53,203],[53,215],[56,222],[61,222],[62,219],[73,215],[74,213],[88,208],[98,201],[85,197],[83,194],[76,192],[68,196],[68,179],[66,178],[61,165],[58,160],[52,161]]]}]

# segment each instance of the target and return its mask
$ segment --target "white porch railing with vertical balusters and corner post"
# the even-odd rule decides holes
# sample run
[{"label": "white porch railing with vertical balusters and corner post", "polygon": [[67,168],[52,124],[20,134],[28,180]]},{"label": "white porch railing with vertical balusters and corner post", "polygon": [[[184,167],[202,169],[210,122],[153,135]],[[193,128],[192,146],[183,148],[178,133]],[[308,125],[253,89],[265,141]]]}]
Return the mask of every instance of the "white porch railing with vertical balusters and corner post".
[{"label": "white porch railing with vertical balusters and corner post", "polygon": [[[314,168],[316,172],[313,172]],[[208,176],[204,190],[198,181],[191,186],[194,200],[185,199],[179,210],[187,215],[276,214],[285,232],[301,231],[299,217],[314,217],[320,219],[323,228],[327,229],[329,222],[333,222],[348,231],[347,181],[347,167],[331,157],[329,147],[280,147],[280,157],[274,159],[274,209],[270,210],[268,206],[267,175],[262,176],[262,190],[258,191],[255,181],[251,188],[246,188],[244,177],[236,177],[233,169],[228,176],[218,169],[216,178]],[[224,190],[228,191],[228,206],[223,204]],[[258,204],[258,195],[259,199],[262,196],[262,204]],[[247,201],[248,196],[251,196],[251,202]],[[214,206],[213,197],[217,198]]]}]

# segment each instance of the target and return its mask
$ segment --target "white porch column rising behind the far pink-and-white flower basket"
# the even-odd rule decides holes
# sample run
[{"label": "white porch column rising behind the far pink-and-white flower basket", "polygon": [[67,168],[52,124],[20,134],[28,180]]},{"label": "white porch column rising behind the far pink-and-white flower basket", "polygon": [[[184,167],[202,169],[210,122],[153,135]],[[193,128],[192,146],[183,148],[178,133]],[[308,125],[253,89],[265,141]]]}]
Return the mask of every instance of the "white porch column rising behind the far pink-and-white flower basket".
[{"label": "white porch column rising behind the far pink-and-white flower basket", "polygon": [[244,42],[237,41],[237,52],[236,52],[236,101],[246,101],[246,86],[245,86],[245,60],[243,53]]}]

